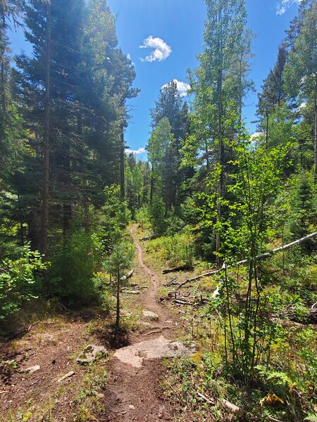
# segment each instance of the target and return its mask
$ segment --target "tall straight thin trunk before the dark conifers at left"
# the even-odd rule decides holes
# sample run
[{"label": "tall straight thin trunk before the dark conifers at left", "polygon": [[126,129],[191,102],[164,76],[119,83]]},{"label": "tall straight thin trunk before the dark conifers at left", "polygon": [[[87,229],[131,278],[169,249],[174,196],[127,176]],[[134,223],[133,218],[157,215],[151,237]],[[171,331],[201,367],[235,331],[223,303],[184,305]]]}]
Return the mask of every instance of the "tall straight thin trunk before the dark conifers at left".
[{"label": "tall straight thin trunk before the dark conifers at left", "polygon": [[49,132],[51,118],[51,5],[46,5],[46,75],[44,115],[44,175],[42,189],[42,210],[39,249],[47,253],[47,229],[49,224]]}]

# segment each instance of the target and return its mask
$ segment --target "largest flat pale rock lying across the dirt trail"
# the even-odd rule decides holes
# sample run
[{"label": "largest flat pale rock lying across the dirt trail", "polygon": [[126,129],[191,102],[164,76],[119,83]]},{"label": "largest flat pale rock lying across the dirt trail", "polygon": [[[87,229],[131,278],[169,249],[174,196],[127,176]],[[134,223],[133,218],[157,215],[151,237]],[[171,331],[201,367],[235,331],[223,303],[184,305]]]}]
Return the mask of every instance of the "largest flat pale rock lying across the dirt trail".
[{"label": "largest flat pale rock lying across the dirt trail", "polygon": [[143,360],[162,357],[190,357],[195,352],[194,345],[185,345],[180,341],[171,341],[161,335],[155,340],[142,341],[117,350],[114,356],[125,364],[141,368]]}]

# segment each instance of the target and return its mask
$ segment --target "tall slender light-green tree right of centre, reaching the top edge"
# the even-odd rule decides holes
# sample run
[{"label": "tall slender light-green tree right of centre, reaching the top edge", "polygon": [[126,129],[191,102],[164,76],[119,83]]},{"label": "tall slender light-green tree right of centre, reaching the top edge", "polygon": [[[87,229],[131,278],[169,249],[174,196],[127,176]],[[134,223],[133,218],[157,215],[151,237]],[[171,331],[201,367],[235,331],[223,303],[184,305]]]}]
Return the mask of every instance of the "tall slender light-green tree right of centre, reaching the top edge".
[{"label": "tall slender light-green tree right of centre, reaching the top edge", "polygon": [[[226,139],[233,139],[241,126],[243,97],[251,84],[247,81],[251,56],[245,1],[206,0],[208,19],[204,32],[204,52],[200,67],[191,76],[194,115],[198,117],[198,149],[206,152],[206,167],[211,160],[220,168],[217,189],[217,222],[221,219],[220,198],[224,193],[224,166],[228,153]],[[201,129],[202,126],[202,129]],[[216,252],[220,233],[216,232]]]}]

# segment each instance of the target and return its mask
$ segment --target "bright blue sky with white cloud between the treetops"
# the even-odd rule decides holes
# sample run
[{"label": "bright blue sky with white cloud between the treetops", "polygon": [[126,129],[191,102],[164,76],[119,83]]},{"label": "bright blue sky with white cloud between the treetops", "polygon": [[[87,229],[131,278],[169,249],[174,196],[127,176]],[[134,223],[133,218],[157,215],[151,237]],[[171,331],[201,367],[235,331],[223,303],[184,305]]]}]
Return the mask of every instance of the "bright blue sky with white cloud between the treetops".
[{"label": "bright blue sky with white cloud between the treetops", "polygon": [[[297,14],[299,2],[247,0],[249,27],[256,34],[250,77],[257,90],[275,63],[278,45],[285,37],[290,20]],[[204,0],[108,0],[108,6],[117,15],[119,45],[135,63],[135,86],[141,89],[139,96],[128,103],[132,117],[125,133],[127,145],[137,151],[147,144],[149,108],[154,106],[163,84],[172,79],[188,82],[187,69],[198,65],[206,6]],[[29,51],[22,32],[12,33],[11,42],[14,53],[21,49]],[[154,48],[140,49],[144,44]],[[155,51],[155,47],[159,49]],[[146,58],[151,61],[144,60]],[[252,132],[256,99],[256,94],[249,96],[244,108]],[[145,155],[142,153],[139,157]]]}]

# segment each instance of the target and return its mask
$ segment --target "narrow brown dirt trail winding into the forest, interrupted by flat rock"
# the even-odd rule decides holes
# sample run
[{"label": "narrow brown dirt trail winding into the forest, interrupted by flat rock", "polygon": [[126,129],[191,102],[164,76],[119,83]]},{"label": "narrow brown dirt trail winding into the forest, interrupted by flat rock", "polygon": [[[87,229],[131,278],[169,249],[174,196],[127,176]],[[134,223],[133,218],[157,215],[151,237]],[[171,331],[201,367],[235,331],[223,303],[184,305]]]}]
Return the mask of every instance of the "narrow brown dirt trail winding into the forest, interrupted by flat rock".
[{"label": "narrow brown dirt trail winding into the forest, interrupted by flat rock", "polygon": [[[130,341],[130,344],[143,342],[159,338],[175,338],[176,321],[173,314],[168,309],[160,305],[157,300],[159,288],[159,276],[155,271],[147,267],[143,262],[142,247],[134,234],[134,228],[130,233],[135,241],[137,257],[141,274],[151,280],[151,286],[142,296],[142,306],[144,309],[155,312],[159,316],[159,321],[149,321],[150,326],[145,331],[137,333]],[[147,335],[151,331],[159,331],[161,327],[170,326],[159,333]],[[160,378],[163,368],[161,359],[144,361],[141,368],[135,368],[130,364],[124,364],[113,358],[111,364],[110,381],[106,396],[106,420],[124,422],[154,422],[169,421],[172,419],[172,411],[168,403],[164,401],[160,387]]]}]

